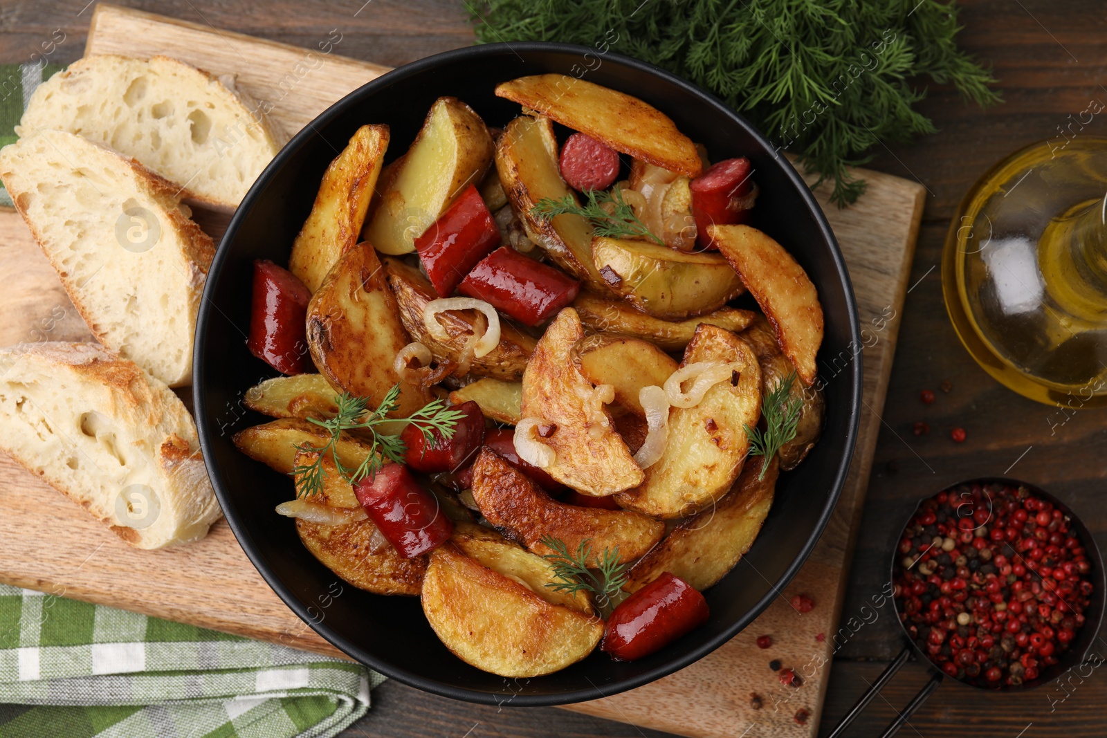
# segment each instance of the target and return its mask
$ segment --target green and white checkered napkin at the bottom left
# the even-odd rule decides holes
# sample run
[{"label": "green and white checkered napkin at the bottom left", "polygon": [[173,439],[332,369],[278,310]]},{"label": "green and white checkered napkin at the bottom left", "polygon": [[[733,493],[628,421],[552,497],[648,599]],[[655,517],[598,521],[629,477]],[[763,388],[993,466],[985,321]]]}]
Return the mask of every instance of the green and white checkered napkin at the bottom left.
[{"label": "green and white checkered napkin at the bottom left", "polygon": [[334,736],[362,666],[0,584],[0,738]]}]

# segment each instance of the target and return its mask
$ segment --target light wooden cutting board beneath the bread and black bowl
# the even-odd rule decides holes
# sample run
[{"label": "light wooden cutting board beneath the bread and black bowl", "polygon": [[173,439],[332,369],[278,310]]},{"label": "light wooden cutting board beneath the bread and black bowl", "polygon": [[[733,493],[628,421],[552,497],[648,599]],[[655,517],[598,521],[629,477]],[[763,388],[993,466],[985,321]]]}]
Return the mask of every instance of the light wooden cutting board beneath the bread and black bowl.
[{"label": "light wooden cutting board beneath the bread and black bowl", "polygon": [[[324,40],[321,40],[323,43]],[[86,54],[166,54],[215,74],[235,73],[272,116],[294,134],[331,103],[387,67],[218,31],[161,15],[100,4]],[[899,313],[922,214],[923,187],[876,171],[860,202],[847,210],[817,193],[849,266],[860,309],[865,405],[857,451],[841,500],[814,554],[780,597],[745,632],[696,664],[654,684],[571,706],[601,717],[686,736],[815,736],[838,632],[861,502],[896,351]],[[218,237],[226,217],[198,214]],[[0,211],[0,345],[91,340],[56,276],[22,220]],[[81,508],[0,456],[0,581],[126,610],[263,638],[323,654],[338,652],[266,585],[223,521],[198,543],[164,551],[128,548]],[[799,614],[793,594],[815,609]],[[847,613],[857,630],[866,613]],[[825,640],[816,636],[825,634]],[[755,640],[770,635],[773,646]],[[806,676],[785,687],[770,658]],[[823,663],[823,662],[826,663]],[[821,665],[820,665],[821,664]],[[755,709],[752,695],[761,697]],[[806,709],[806,725],[794,719]]]}]

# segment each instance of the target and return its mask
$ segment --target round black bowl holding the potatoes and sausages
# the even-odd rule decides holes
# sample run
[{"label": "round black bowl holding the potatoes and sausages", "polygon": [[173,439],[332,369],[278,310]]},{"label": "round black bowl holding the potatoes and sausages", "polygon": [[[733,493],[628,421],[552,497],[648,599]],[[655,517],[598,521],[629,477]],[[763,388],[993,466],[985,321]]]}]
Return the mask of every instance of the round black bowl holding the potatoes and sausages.
[{"label": "round black bowl holding the potatoes and sausages", "polygon": [[[792,251],[823,300],[826,426],[810,456],[783,476],[756,544],[705,593],[711,605],[705,625],[637,662],[615,663],[597,652],[556,674],[505,679],[451,654],[417,599],[373,595],[339,582],[301,545],[292,522],[273,513],[277,503],[290,498],[288,478],[241,455],[231,443],[235,432],[266,420],[245,409],[242,394],[275,375],[245,345],[251,264],[255,259],[288,261],[323,169],[359,126],[389,124],[390,157],[395,158],[439,96],[459,97],[489,125],[504,125],[519,106],[493,94],[497,83],[546,72],[579,75],[582,70],[589,70],[584,79],[637,95],[670,115],[714,159],[753,160],[762,189],[754,225]],[[301,131],[255,183],[208,274],[196,340],[196,416],[231,530],[270,586],[320,635],[363,664],[427,692],[484,704],[557,705],[630,689],[687,666],[779,596],[823,532],[846,479],[861,405],[858,332],[849,274],[819,206],[792,165],[741,116],[687,82],[614,53],[554,43],[470,46],[407,64],[346,95]],[[341,595],[333,596],[339,586]]]}]

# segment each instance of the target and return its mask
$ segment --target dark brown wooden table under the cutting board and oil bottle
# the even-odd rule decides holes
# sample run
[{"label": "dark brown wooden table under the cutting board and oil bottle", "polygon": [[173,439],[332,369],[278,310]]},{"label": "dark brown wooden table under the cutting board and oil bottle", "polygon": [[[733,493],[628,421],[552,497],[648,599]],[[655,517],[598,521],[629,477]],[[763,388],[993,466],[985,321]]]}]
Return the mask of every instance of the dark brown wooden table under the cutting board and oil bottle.
[{"label": "dark brown wooden table under the cutting board and oil bottle", "polygon": [[[389,65],[472,42],[459,0],[186,0],[185,3],[116,0],[299,45],[313,45],[332,29],[342,33],[340,53]],[[364,2],[364,4],[362,4]],[[879,591],[888,551],[899,522],[914,502],[960,479],[1004,475],[1036,482],[1080,512],[1107,545],[1107,410],[1059,410],[1024,399],[980,370],[960,345],[942,303],[939,260],[946,227],[959,198],[974,179],[1004,155],[1058,135],[1069,114],[1089,101],[1107,104],[1107,13],[1095,0],[963,0],[961,45],[994,66],[1005,103],[987,111],[966,106],[945,86],[931,86],[920,108],[939,133],[911,144],[878,146],[871,168],[922,181],[928,190],[899,347],[884,408],[842,619]],[[92,8],[83,2],[7,0],[0,6],[0,62],[27,62],[56,45],[48,61],[69,63],[81,55]],[[90,3],[91,6],[91,3]],[[35,58],[37,59],[37,58]],[[1103,85],[1103,86],[1101,86]],[[1082,135],[1107,135],[1107,117],[1096,116]],[[940,389],[952,384],[949,393]],[[920,391],[938,399],[923,405]],[[931,432],[914,436],[917,420]],[[955,444],[961,426],[968,440]],[[832,726],[898,651],[899,628],[888,617],[866,626],[839,651],[824,710],[824,732]],[[1107,649],[1107,646],[1105,646]],[[767,668],[767,666],[766,666]],[[911,663],[877,698],[850,735],[879,735],[925,680]],[[1101,736],[1107,709],[1107,675],[1097,671],[1055,705],[1064,693],[1042,687],[1021,697],[984,695],[945,684],[900,735],[922,738],[965,732],[1026,738]],[[735,698],[745,698],[735,685]],[[1023,732],[1021,732],[1023,731]],[[343,736],[659,736],[632,725],[610,723],[554,708],[497,709],[455,703],[385,683],[373,693],[370,714]]]}]

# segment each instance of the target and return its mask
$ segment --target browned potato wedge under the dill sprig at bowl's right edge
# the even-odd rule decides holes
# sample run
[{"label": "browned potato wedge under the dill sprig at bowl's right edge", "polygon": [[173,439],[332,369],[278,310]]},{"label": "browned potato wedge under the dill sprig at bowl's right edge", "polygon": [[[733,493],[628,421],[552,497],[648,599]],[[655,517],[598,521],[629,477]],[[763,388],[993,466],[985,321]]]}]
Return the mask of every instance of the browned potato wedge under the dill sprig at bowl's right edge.
[{"label": "browned potato wedge under the dill sprig at bowl's right edge", "polygon": [[[795,372],[796,367],[780,353],[780,346],[777,345],[776,336],[773,334],[773,326],[764,315],[757,315],[741,335],[754,350],[757,363],[761,364],[762,397],[764,397],[784,382],[788,374]],[[801,382],[795,382],[788,395],[798,397],[801,404],[799,420],[796,423],[796,436],[780,446],[782,471],[795,469],[815,447],[823,434],[823,416],[826,413],[826,398],[820,387],[805,387]]]}]

